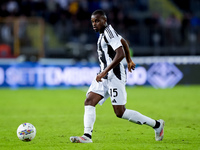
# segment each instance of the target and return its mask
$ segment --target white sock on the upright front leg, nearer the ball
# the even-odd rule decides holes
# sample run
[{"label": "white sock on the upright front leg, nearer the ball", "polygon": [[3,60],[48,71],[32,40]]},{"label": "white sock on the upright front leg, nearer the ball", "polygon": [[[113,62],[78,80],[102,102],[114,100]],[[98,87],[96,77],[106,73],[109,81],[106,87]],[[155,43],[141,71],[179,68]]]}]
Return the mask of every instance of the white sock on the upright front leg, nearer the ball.
[{"label": "white sock on the upright front leg, nearer the ball", "polygon": [[96,120],[96,108],[94,106],[85,106],[84,113],[84,133],[92,135],[93,125]]}]

